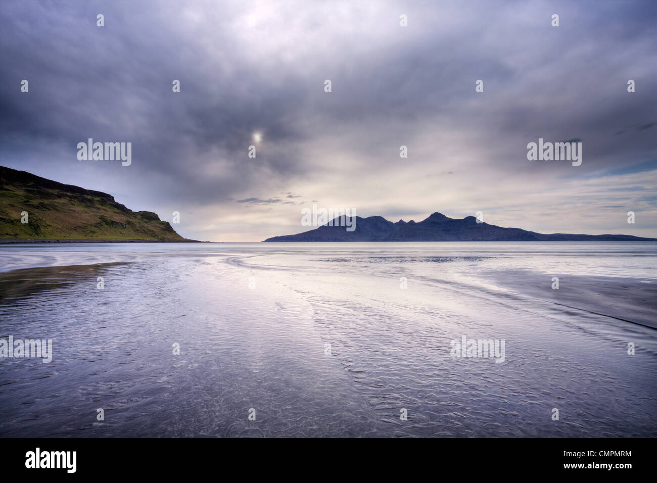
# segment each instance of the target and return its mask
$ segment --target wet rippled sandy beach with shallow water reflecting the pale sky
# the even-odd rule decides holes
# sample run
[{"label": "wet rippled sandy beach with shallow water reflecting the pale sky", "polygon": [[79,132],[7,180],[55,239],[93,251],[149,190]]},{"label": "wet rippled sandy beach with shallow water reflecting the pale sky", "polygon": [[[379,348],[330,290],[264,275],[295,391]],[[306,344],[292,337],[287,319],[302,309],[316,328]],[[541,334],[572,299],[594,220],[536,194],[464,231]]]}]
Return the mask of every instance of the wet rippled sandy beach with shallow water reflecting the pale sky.
[{"label": "wet rippled sandy beach with shallow water reflecting the pale sky", "polygon": [[0,359],[2,436],[657,436],[655,243],[32,244],[0,267],[0,338],[53,341]]}]

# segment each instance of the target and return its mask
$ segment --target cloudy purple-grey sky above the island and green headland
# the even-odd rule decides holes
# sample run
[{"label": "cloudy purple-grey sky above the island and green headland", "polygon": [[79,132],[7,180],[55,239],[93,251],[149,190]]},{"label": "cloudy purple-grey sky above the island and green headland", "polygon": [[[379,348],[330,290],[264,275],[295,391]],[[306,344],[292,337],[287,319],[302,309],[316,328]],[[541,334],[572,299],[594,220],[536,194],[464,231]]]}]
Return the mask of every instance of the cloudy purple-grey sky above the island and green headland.
[{"label": "cloudy purple-grey sky above the island and green headland", "polygon": [[307,231],[313,203],[657,237],[655,1],[3,0],[0,60],[0,165],[190,239]]}]

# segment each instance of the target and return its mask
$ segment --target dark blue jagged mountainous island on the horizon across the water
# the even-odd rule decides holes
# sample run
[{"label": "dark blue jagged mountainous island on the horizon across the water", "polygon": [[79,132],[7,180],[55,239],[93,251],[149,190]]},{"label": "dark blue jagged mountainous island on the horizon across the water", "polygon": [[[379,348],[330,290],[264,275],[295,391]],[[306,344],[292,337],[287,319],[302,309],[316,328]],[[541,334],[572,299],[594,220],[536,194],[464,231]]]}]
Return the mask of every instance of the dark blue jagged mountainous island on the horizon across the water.
[{"label": "dark blue jagged mountainous island on the horizon across the water", "polygon": [[[349,224],[353,223],[353,220]],[[344,217],[332,220],[311,231],[296,235],[271,237],[265,242],[371,242],[371,241],[657,241],[654,238],[632,235],[549,235],[520,228],[503,228],[488,223],[477,223],[474,216],[449,218],[438,212],[415,223],[388,221],[382,216],[355,217],[355,229],[346,231]]]}]

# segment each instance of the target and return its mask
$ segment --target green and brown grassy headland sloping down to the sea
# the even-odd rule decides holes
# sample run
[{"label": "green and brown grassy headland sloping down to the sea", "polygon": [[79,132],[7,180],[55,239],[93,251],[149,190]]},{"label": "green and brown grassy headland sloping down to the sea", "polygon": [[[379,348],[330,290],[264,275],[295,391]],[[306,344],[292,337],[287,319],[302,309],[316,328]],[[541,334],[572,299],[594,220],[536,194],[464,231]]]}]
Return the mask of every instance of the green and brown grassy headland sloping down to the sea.
[{"label": "green and brown grassy headland sloping down to the sea", "polygon": [[0,242],[127,241],[194,240],[157,214],[133,212],[107,193],[0,166]]}]

